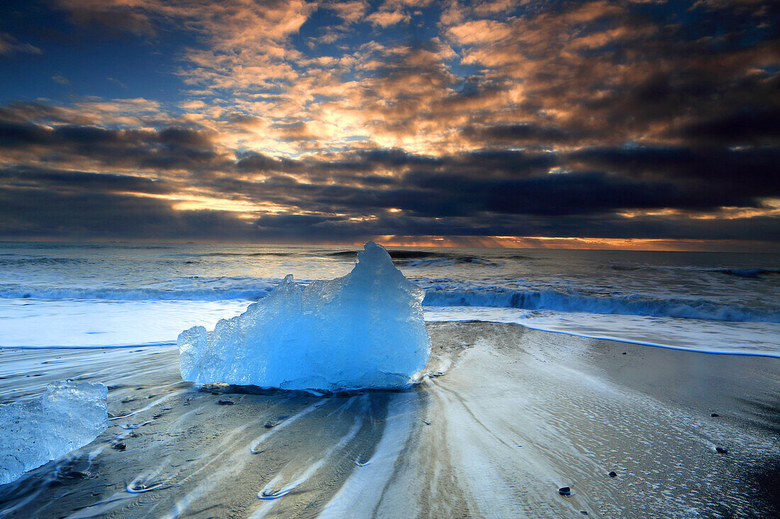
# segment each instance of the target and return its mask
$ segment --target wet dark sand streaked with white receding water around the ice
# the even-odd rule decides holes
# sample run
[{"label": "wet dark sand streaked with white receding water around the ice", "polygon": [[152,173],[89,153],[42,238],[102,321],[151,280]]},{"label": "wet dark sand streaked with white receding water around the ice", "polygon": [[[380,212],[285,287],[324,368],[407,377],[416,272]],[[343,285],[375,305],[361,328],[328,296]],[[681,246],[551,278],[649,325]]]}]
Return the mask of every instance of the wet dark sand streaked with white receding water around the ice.
[{"label": "wet dark sand streaked with white receding water around the ice", "polygon": [[0,401],[76,378],[112,416],[0,517],[780,517],[780,359],[428,328],[417,386],[323,397],[182,382],[172,346],[0,350]]}]

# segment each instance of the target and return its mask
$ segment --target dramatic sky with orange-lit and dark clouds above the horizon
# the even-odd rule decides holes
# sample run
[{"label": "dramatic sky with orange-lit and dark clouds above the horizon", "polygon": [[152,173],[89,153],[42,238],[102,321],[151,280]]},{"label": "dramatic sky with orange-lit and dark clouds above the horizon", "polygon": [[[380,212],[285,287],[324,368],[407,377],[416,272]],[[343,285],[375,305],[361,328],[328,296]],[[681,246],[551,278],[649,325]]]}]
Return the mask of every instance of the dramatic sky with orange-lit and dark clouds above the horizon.
[{"label": "dramatic sky with orange-lit and dark clouds above the horizon", "polygon": [[780,252],[780,4],[4,0],[0,239]]}]

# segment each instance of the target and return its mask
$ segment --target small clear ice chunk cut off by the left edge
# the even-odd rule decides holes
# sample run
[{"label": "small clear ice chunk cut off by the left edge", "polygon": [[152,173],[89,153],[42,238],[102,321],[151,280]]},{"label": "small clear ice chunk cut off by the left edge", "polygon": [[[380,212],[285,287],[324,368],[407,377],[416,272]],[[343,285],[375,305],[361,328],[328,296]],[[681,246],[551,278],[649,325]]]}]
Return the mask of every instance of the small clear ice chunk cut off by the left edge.
[{"label": "small clear ice chunk cut off by the left edge", "polygon": [[0,485],[91,443],[108,426],[103,384],[55,382],[33,401],[0,405]]}]

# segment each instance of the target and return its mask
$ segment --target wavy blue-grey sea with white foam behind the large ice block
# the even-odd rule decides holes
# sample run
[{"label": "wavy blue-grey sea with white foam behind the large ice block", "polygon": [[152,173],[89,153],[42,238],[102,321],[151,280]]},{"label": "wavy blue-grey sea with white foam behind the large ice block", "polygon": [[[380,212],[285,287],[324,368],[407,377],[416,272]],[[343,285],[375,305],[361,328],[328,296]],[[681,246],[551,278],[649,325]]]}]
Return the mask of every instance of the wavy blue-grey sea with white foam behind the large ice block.
[{"label": "wavy blue-grey sea with white foam behind the large ice block", "polygon": [[[349,273],[358,247],[0,242],[0,347],[176,342],[268,294]],[[780,357],[780,255],[390,247],[426,320]]]}]

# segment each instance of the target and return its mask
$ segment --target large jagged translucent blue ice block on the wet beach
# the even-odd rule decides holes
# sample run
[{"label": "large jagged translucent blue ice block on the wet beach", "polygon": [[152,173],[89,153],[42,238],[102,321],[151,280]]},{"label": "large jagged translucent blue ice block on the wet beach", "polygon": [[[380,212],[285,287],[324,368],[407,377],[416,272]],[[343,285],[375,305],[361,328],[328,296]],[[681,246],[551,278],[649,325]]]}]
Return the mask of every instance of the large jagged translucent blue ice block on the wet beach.
[{"label": "large jagged translucent blue ice block on the wet beach", "polygon": [[352,272],[300,288],[288,275],[214,331],[179,334],[183,380],[288,390],[399,388],[425,367],[423,289],[368,242]]}]

